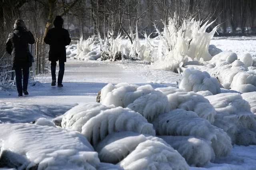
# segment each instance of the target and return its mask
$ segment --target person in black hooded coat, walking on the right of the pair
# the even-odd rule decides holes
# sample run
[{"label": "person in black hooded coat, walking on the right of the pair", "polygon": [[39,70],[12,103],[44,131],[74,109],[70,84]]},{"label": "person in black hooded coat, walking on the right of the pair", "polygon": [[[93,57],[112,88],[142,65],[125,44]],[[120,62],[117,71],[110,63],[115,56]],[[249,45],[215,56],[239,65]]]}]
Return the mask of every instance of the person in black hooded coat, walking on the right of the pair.
[{"label": "person in black hooded coat, walking on the right of the pair", "polygon": [[62,79],[64,76],[66,62],[66,45],[69,45],[71,39],[68,30],[62,28],[64,20],[61,16],[56,16],[53,21],[54,28],[49,29],[44,42],[50,45],[49,61],[51,61],[52,86],[56,86],[56,65],[59,61],[58,87],[63,87]]}]

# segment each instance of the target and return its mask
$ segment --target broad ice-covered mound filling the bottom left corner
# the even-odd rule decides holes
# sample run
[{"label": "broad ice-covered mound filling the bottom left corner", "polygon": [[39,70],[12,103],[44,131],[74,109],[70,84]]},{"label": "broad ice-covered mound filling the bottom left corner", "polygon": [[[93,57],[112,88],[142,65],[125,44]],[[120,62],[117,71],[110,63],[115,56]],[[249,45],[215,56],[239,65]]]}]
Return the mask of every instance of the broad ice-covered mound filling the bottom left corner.
[{"label": "broad ice-covered mound filling the bottom left corner", "polygon": [[1,157],[6,160],[1,164],[12,168],[96,170],[100,163],[82,135],[60,128],[3,123],[0,141]]}]

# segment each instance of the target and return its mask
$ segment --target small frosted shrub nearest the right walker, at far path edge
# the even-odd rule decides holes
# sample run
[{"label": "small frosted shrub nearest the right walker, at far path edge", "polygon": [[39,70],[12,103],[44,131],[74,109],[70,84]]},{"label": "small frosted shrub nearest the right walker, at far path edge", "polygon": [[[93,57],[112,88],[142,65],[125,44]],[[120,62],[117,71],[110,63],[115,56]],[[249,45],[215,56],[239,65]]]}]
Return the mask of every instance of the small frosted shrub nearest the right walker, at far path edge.
[{"label": "small frosted shrub nearest the right walker, at far path edge", "polygon": [[86,40],[81,36],[80,40],[77,42],[77,54],[74,58],[79,60],[97,60],[100,56],[91,53],[94,48],[94,43],[94,36],[88,37]]}]

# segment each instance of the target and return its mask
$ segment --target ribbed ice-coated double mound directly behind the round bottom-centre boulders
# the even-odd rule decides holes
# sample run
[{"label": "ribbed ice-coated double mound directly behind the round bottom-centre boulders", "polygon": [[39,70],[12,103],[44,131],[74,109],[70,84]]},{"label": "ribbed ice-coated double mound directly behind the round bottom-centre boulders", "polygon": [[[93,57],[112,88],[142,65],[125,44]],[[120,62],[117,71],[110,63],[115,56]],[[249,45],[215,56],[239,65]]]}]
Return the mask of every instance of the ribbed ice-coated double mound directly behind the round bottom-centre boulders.
[{"label": "ribbed ice-coated double mound directly behind the round bottom-centre boulders", "polygon": [[82,104],[64,114],[62,127],[80,131],[93,146],[108,134],[119,131],[155,135],[153,125],[128,108],[111,108],[99,103]]}]

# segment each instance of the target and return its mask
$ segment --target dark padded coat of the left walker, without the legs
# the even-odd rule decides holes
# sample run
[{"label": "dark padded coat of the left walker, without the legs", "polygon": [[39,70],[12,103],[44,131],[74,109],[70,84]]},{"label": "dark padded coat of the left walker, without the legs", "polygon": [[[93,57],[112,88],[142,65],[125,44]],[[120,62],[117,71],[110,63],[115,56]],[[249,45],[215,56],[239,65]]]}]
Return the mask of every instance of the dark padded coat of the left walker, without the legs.
[{"label": "dark padded coat of the left walker, without the legs", "polygon": [[29,63],[28,43],[34,44],[35,39],[33,34],[23,27],[16,27],[9,34],[6,41],[6,51],[12,55],[14,65]]}]

